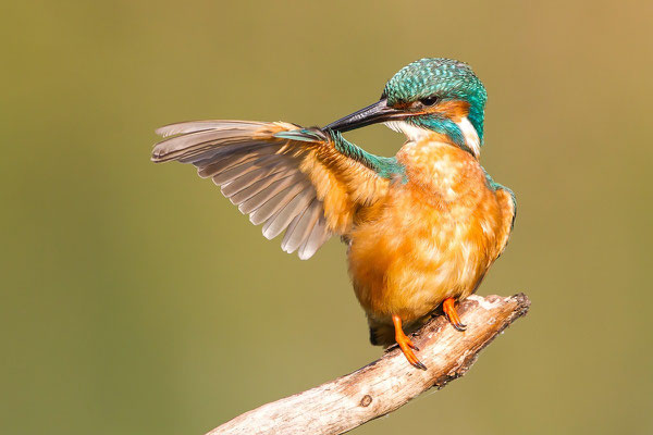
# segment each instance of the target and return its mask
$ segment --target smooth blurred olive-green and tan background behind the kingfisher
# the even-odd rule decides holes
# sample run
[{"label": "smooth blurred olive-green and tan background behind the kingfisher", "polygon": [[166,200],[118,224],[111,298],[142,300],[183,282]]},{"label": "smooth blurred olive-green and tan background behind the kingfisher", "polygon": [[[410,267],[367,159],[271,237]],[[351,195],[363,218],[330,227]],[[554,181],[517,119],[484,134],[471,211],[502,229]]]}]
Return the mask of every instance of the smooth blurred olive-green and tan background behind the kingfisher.
[{"label": "smooth blurred olive-green and tan background behind the kingfisher", "polygon": [[[380,356],[330,241],[308,262],[149,152],[194,119],[324,125],[422,57],[489,95],[530,314],[357,434],[653,433],[653,3],[3,5],[0,433],[201,434]],[[382,126],[349,135],[391,156]]]}]

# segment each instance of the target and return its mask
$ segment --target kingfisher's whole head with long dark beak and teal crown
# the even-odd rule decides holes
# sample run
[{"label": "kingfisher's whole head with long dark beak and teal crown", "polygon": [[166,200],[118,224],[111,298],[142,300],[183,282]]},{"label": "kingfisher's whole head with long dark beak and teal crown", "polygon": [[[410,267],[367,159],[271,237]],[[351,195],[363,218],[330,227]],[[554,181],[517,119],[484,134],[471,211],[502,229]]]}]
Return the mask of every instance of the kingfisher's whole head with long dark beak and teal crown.
[{"label": "kingfisher's whole head with long dark beak and teal crown", "polygon": [[411,140],[432,134],[479,157],[488,94],[469,65],[453,59],[420,59],[385,85],[381,99],[325,128],[347,132],[385,123]]}]

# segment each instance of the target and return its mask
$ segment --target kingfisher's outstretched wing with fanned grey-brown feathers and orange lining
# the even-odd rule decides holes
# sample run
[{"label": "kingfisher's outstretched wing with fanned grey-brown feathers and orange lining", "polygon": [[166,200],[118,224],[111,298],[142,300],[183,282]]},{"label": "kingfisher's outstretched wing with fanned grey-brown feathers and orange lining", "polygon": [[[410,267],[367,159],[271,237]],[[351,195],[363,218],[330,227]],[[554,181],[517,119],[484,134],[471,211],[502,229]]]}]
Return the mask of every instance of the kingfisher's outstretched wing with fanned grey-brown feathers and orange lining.
[{"label": "kingfisher's outstretched wing with fanned grey-brown feathers and orange lining", "polygon": [[[152,161],[176,160],[212,178],[271,239],[310,258],[332,234],[346,235],[356,211],[387,191],[394,159],[379,158],[338,134],[287,123],[195,121],[157,129],[167,137]],[[333,137],[332,137],[333,135]]]}]

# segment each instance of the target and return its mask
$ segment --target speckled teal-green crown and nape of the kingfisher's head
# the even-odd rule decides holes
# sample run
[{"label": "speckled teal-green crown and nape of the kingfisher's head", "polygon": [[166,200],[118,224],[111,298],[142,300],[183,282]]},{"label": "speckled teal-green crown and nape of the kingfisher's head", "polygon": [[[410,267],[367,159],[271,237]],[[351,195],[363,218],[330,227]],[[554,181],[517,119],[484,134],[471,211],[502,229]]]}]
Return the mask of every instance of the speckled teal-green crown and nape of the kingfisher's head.
[{"label": "speckled teal-green crown and nape of the kingfisher's head", "polygon": [[382,98],[387,104],[412,102],[422,98],[469,102],[469,121],[483,140],[483,112],[488,92],[468,64],[454,59],[420,59],[404,66],[385,85]]}]

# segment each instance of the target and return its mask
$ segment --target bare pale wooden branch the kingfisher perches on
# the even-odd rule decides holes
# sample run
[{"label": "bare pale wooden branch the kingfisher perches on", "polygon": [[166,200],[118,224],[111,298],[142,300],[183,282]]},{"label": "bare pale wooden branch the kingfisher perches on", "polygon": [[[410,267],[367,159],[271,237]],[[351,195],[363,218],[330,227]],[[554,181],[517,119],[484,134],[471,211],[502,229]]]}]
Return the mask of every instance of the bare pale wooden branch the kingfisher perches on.
[{"label": "bare pale wooden branch the kingfisher perches on", "polygon": [[525,315],[523,294],[512,297],[470,296],[459,308],[465,333],[443,315],[432,319],[412,338],[427,371],[406,362],[398,348],[379,360],[304,393],[263,405],[215,427],[217,434],[341,434],[406,405],[431,387],[442,388],[463,376],[478,353],[503,330]]}]

